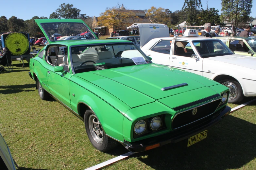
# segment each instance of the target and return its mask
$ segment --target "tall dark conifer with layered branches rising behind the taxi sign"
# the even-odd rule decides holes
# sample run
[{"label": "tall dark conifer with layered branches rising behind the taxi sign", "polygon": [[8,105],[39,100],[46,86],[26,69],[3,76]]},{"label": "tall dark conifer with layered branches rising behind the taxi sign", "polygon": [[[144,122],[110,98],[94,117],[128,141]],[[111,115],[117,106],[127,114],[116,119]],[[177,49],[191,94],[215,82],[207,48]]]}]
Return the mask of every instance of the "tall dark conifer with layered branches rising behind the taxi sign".
[{"label": "tall dark conifer with layered branches rising behind the taxi sign", "polygon": [[201,0],[185,0],[182,10],[187,16],[186,23],[190,26],[197,26],[200,22],[196,16],[203,10]]}]

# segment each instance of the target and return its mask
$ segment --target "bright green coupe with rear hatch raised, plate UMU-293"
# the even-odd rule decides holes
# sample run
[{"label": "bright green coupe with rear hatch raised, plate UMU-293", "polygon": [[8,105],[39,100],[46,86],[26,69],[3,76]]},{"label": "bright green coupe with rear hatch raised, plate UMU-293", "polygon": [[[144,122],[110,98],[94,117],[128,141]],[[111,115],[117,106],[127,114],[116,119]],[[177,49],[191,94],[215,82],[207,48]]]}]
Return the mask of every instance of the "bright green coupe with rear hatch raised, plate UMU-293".
[{"label": "bright green coupe with rear hatch raised, plate UMU-293", "polygon": [[[153,64],[131,41],[99,40],[82,20],[35,21],[49,42],[29,63],[39,96],[53,97],[83,120],[100,151],[117,142],[132,152],[183,139],[191,146],[230,113],[229,88]],[[91,39],[49,38],[85,31]]]}]

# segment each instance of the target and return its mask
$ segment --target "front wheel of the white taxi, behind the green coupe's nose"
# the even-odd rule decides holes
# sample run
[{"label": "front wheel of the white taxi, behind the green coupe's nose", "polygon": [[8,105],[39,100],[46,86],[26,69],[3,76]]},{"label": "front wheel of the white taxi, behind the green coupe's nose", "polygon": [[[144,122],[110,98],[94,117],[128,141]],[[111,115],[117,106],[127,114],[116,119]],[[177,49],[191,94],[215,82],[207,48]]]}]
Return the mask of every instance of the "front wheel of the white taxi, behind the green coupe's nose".
[{"label": "front wheel of the white taxi, behind the green coupe's nose", "polygon": [[240,83],[236,80],[225,79],[219,81],[219,83],[229,88],[229,103],[238,103],[244,99],[243,89]]}]

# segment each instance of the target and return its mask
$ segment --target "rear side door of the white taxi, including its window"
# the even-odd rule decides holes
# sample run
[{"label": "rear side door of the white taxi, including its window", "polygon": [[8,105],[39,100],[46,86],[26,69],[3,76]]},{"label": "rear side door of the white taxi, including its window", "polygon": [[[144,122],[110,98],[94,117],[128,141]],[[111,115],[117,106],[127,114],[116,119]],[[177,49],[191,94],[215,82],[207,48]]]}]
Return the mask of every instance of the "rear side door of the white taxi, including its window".
[{"label": "rear side door of the white taxi, including its window", "polygon": [[170,40],[160,40],[150,50],[146,51],[146,55],[152,58],[153,63],[168,65],[171,43]]}]

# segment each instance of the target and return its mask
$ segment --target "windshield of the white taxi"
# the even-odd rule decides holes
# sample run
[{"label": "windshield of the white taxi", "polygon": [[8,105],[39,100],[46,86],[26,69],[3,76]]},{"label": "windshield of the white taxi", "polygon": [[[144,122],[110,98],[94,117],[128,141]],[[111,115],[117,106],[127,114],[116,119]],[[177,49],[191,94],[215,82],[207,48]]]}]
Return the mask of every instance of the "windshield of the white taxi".
[{"label": "windshield of the white taxi", "polygon": [[222,41],[217,39],[193,41],[193,44],[202,58],[234,54]]}]

